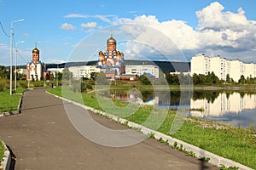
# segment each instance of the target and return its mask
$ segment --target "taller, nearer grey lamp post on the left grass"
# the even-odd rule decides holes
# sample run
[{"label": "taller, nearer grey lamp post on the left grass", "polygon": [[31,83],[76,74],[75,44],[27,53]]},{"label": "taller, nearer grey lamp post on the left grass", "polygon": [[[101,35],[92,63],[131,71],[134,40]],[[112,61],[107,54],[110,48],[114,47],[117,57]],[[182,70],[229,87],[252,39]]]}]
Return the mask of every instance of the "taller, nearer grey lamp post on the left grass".
[{"label": "taller, nearer grey lamp post on the left grass", "polygon": [[12,95],[12,82],[13,82],[13,25],[15,22],[22,22],[22,20],[14,20],[11,22],[10,27],[10,41],[9,41],[9,95]]}]

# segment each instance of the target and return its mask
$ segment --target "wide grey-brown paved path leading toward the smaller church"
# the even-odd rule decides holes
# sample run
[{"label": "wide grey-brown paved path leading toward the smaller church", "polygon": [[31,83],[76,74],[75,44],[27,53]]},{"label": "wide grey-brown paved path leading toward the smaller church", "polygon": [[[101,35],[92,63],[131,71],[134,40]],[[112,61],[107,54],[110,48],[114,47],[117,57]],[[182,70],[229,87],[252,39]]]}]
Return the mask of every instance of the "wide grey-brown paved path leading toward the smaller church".
[{"label": "wide grey-brown paved path leading toward the smaller church", "polygon": [[[106,127],[126,128],[102,116],[91,116]],[[154,139],[121,148],[95,144],[75,130],[62,100],[44,89],[24,94],[20,115],[0,117],[0,139],[14,152],[15,169],[20,170],[218,169]]]}]

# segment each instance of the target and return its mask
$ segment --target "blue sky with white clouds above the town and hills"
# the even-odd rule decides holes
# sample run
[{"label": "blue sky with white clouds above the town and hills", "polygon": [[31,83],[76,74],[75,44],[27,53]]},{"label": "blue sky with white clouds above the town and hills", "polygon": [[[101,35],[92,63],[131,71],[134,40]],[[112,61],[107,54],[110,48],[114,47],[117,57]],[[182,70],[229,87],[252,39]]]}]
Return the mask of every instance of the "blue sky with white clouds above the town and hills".
[{"label": "blue sky with white clouds above the town and hills", "polygon": [[125,59],[190,61],[206,54],[256,63],[255,6],[253,0],[0,0],[0,65],[10,65],[11,23],[18,65],[32,59],[35,42],[45,63],[94,60],[111,34]]}]

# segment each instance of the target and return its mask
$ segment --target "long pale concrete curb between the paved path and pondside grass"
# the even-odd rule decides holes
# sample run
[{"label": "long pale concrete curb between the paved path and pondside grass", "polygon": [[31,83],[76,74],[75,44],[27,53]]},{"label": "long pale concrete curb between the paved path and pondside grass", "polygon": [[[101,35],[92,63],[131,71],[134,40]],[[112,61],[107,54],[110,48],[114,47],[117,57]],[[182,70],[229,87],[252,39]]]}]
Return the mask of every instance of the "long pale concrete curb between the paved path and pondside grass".
[{"label": "long pale concrete curb between the paved path and pondside grass", "polygon": [[[50,94],[47,91],[46,91],[46,93]],[[164,133],[154,131],[152,129],[149,129],[148,127],[143,127],[142,125],[139,125],[135,122],[130,122],[130,121],[124,119],[124,118],[120,118],[118,116],[111,115],[111,114],[106,113],[104,111],[98,111],[98,110],[96,110],[94,108],[91,108],[89,106],[79,104],[79,103],[71,101],[69,99],[64,99],[64,98],[62,98],[60,96],[57,96],[55,94],[50,94],[50,95],[53,95],[56,98],[62,99],[64,101],[67,101],[67,102],[72,103],[74,105],[78,105],[78,106],[84,108],[85,110],[93,111],[97,114],[101,114],[102,116],[107,116],[108,118],[113,119],[113,121],[120,122],[120,123],[123,123],[123,124],[127,124],[128,127],[135,127],[137,129],[140,129],[140,132],[145,134],[145,135],[154,133],[154,138],[155,139],[160,140],[160,138],[161,138],[161,139],[164,139],[165,141],[168,140],[169,145],[173,145],[175,142],[177,142],[178,146],[182,144],[183,149],[186,149],[188,151],[193,151],[195,153],[195,156],[198,157],[198,158],[200,158],[200,157],[210,158],[210,161],[208,161],[208,162],[210,162],[213,165],[216,165],[218,167],[220,167],[221,165],[224,165],[225,167],[239,167],[239,169],[241,169],[241,170],[253,170],[252,168],[247,167],[245,165],[242,165],[241,163],[238,163],[236,161],[232,161],[232,160],[224,158],[222,156],[218,156],[216,154],[212,154],[211,152],[209,152],[207,150],[203,150],[203,149],[201,149],[197,146],[194,146],[192,144],[188,144],[186,142],[183,142],[182,140],[172,138],[171,136],[167,136]]]}]

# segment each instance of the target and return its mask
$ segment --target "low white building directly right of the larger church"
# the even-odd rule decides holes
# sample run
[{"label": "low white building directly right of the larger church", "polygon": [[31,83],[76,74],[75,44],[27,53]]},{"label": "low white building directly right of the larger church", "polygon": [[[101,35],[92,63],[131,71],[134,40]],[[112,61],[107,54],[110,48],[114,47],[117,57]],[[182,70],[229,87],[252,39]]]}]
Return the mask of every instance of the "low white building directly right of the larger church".
[{"label": "low white building directly right of the larger church", "polygon": [[159,78],[159,67],[157,65],[125,65],[125,74],[142,76],[144,73]]}]

